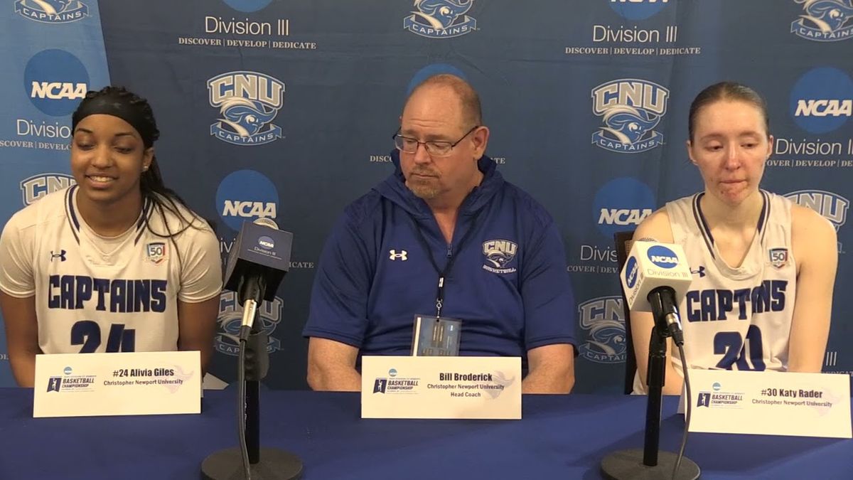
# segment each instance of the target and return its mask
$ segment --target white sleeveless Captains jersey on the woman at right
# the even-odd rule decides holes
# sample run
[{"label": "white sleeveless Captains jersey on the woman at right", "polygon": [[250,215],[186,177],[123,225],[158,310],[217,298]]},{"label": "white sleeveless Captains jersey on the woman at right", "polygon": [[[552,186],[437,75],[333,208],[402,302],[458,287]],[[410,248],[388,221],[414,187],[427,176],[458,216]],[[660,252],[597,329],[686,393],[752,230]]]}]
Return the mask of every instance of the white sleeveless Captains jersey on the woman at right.
[{"label": "white sleeveless Captains jersey on the woman at right", "polygon": [[[693,283],[679,313],[684,354],[691,368],[776,370],[788,367],[788,339],[797,265],[791,249],[791,207],[785,197],[761,190],[763,208],[743,263],[733,268],[722,259],[698,193],[668,202],[673,243],[684,248]],[[670,352],[682,373],[678,352]],[[634,391],[645,391],[635,377]]]}]

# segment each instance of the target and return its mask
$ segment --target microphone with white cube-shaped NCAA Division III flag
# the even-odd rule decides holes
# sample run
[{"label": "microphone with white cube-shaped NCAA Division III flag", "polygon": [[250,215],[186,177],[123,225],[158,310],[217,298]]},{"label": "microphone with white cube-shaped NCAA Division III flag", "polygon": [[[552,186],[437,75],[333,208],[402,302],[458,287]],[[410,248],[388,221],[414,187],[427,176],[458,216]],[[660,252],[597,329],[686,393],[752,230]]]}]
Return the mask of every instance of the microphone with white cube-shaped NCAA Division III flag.
[{"label": "microphone with white cube-shaped NCAA Division III flag", "polygon": [[[655,325],[684,345],[678,301],[693,281],[681,245],[637,241],[619,276],[631,312],[654,313]],[[662,322],[662,323],[659,323]]]}]

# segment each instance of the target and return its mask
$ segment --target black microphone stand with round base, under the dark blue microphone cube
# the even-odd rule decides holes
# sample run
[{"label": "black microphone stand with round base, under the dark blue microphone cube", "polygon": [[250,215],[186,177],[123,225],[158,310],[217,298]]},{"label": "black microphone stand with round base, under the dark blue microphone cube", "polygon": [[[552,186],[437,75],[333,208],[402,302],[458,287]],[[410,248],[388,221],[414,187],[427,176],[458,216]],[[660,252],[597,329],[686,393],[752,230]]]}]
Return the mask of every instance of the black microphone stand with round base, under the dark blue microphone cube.
[{"label": "black microphone stand with round base, under the dark blue microphone cube", "polygon": [[[298,480],[303,470],[298,456],[278,448],[260,448],[260,381],[270,370],[270,354],[267,351],[268,336],[257,320],[256,312],[252,331],[240,346],[245,352],[241,354],[246,356],[244,433],[249,471],[253,480]],[[201,463],[201,477],[206,480],[246,479],[241,448],[227,448],[208,455]]]}]

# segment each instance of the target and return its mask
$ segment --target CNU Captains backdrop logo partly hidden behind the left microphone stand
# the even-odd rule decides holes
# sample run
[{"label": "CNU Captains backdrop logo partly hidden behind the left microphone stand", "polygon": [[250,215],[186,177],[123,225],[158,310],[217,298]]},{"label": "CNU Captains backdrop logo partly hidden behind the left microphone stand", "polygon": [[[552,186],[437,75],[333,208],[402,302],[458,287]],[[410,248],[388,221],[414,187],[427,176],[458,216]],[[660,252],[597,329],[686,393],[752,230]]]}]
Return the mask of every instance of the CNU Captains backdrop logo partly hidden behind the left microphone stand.
[{"label": "CNU Captains backdrop logo partly hidden behind the left microphone stand", "polygon": [[[268,336],[276,331],[276,326],[281,322],[281,308],[284,301],[276,296],[273,301],[263,301],[258,305],[258,318],[261,321],[261,329]],[[220,354],[236,356],[240,354],[240,325],[243,319],[243,307],[237,301],[237,294],[223,291],[219,296],[219,316],[217,320],[218,331],[213,339],[213,348]],[[281,341],[269,337],[267,340],[267,353],[281,350]]]}]

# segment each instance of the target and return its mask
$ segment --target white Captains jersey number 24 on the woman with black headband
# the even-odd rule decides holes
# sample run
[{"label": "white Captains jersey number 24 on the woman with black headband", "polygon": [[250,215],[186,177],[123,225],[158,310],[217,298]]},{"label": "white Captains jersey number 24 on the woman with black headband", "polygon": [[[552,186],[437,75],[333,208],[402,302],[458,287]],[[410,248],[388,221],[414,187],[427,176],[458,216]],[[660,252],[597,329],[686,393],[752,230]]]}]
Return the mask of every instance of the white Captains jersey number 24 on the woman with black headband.
[{"label": "white Captains jersey number 24 on the woman with black headband", "polygon": [[[218,296],[218,240],[194,220],[185,225],[146,202],[135,225],[102,237],[78,213],[77,185],[20,210],[0,238],[0,289],[35,296],[38,345],[45,354],[177,349],[177,301]],[[194,217],[185,208],[184,216]],[[177,247],[177,251],[176,251]]]}]

